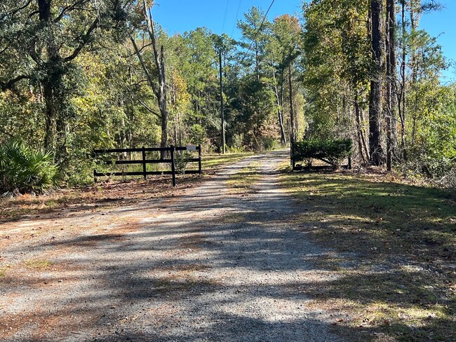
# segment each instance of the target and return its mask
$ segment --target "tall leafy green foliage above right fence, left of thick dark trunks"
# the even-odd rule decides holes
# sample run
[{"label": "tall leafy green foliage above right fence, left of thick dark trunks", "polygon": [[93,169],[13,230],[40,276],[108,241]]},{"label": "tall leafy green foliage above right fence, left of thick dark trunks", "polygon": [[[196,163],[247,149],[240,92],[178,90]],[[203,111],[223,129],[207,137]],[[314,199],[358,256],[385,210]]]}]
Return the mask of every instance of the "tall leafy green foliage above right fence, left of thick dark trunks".
[{"label": "tall leafy green foliage above right fence, left of thick dark trunks", "polygon": [[[354,102],[368,103],[370,36],[366,0],[304,4],[303,83],[312,135],[349,134]],[[363,123],[361,123],[363,124]]]}]

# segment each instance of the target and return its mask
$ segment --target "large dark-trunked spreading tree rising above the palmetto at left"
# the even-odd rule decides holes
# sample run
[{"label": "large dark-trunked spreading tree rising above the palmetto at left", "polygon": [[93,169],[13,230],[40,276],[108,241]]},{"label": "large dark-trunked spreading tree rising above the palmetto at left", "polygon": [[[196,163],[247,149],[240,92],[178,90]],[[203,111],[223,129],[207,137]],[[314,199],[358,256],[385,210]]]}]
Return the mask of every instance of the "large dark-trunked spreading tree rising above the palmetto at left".
[{"label": "large dark-trunked spreading tree rising above the palmetto at left", "polygon": [[121,30],[112,28],[126,20],[133,4],[64,2],[4,0],[0,5],[0,89],[41,102],[34,114],[46,120],[40,132],[43,144],[59,159],[66,157],[67,123],[77,115],[72,98],[86,86],[85,70],[76,58],[100,50],[98,43],[109,46],[114,37],[121,38],[112,34]]}]

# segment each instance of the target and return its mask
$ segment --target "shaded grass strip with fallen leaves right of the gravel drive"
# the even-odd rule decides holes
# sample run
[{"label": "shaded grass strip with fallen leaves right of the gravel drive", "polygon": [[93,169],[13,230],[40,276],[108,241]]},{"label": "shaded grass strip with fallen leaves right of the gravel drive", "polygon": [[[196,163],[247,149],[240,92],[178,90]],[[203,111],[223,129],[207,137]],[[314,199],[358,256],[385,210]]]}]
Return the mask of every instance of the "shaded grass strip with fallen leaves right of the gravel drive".
[{"label": "shaded grass strip with fallen leaves right of the gravel drive", "polygon": [[307,287],[316,307],[349,312],[335,329],[357,341],[456,339],[453,193],[378,172],[286,172],[281,181],[302,205],[295,224],[336,252],[318,267],[337,278]]}]

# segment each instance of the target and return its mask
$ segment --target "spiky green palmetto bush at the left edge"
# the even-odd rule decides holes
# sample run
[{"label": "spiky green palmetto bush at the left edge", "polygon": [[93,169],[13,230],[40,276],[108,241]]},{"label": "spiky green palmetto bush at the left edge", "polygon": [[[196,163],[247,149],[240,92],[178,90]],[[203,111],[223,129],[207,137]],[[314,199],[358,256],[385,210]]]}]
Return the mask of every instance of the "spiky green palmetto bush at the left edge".
[{"label": "spiky green palmetto bush at the left edge", "polygon": [[14,140],[0,144],[0,190],[41,192],[58,184],[58,167],[51,154]]}]

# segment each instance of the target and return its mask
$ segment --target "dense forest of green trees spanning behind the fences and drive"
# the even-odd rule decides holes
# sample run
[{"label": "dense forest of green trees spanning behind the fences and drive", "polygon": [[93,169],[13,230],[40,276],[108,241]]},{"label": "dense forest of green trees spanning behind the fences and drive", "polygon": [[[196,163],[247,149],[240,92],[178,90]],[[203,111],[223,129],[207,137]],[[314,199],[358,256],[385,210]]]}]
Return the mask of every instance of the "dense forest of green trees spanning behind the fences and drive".
[{"label": "dense forest of green trees spanning behind the fences and drive", "polygon": [[228,151],[351,138],[359,165],[455,184],[456,86],[420,29],[435,1],[304,1],[299,18],[272,22],[253,7],[239,41],[170,36],[153,5],[2,0],[0,143],[47,151],[80,184],[93,149],[222,151],[222,100]]}]

